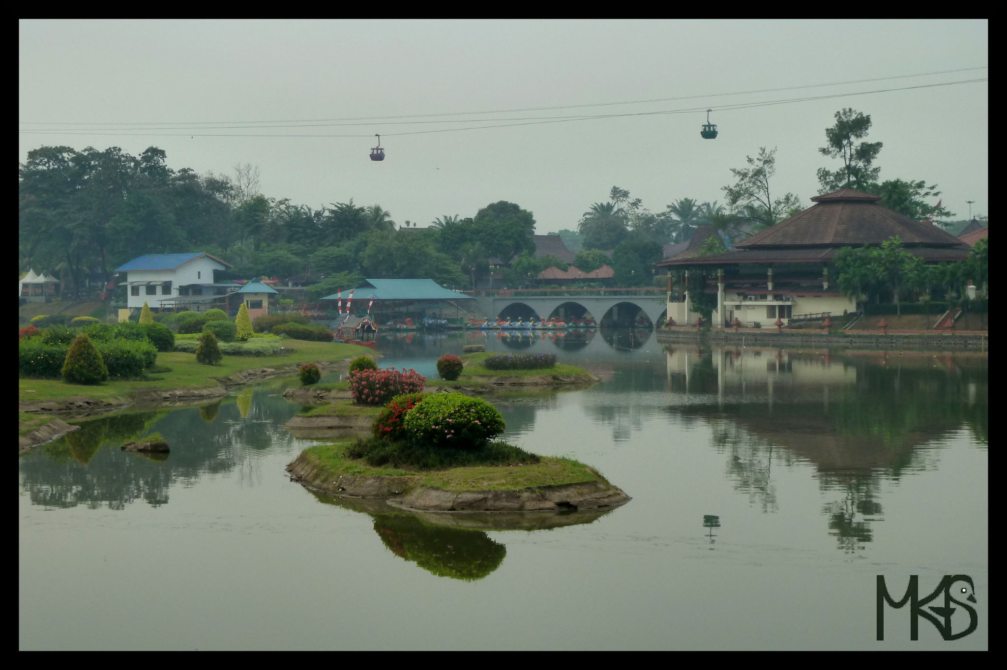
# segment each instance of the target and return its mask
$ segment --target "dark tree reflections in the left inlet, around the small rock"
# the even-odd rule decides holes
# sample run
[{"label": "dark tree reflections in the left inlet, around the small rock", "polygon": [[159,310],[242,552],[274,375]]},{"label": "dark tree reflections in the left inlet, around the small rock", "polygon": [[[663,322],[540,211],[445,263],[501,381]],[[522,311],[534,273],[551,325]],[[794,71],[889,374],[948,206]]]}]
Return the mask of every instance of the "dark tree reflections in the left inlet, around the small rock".
[{"label": "dark tree reflections in the left inlet, around the small rock", "polygon": [[[292,443],[283,423],[297,405],[267,390],[243,395],[240,404],[238,399],[80,422],[80,430],[19,459],[21,489],[36,505],[123,509],[137,500],[163,505],[173,484],[231,472],[246,462],[239,475],[256,479],[258,461],[245,458],[244,451]],[[171,445],[169,458],[119,451],[154,432]]]}]

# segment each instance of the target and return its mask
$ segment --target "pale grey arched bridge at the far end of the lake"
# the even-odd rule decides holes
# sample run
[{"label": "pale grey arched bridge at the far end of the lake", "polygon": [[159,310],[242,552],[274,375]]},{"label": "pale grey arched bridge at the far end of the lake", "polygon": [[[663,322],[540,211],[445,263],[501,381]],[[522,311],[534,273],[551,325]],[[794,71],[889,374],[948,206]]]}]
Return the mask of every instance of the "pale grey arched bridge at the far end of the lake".
[{"label": "pale grey arched bridge at the far end of the lake", "polygon": [[609,312],[611,319],[621,322],[642,312],[656,324],[668,307],[668,297],[662,289],[476,291],[474,297],[479,309],[490,319],[500,316],[508,308],[525,305],[544,319],[553,316],[579,318],[587,311],[598,323]]}]

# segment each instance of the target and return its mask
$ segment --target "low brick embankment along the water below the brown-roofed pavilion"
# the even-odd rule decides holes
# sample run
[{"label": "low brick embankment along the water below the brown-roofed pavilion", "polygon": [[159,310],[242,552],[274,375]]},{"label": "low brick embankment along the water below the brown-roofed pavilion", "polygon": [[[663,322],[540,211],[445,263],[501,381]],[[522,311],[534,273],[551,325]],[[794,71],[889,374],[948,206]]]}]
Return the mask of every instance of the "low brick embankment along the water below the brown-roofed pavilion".
[{"label": "low brick embankment along the water below the brown-roofed pavilion", "polygon": [[673,327],[656,331],[659,342],[688,342],[703,344],[724,344],[745,346],[820,346],[829,348],[856,349],[975,349],[989,350],[989,333],[956,332],[937,333],[933,331],[842,331],[829,334],[827,331],[781,330],[768,328],[712,328],[709,331],[695,328]]}]

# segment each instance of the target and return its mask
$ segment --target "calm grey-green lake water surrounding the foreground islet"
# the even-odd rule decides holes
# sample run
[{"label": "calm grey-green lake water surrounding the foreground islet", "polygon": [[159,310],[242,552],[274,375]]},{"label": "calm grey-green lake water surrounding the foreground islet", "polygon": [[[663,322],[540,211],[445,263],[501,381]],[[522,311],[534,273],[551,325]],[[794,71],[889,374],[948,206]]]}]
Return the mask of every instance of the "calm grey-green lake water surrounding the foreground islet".
[{"label": "calm grey-green lake water surrounding the foreground islet", "polygon": [[[646,331],[416,334],[382,367],[435,376],[485,342],[602,382],[492,398],[507,438],[632,501],[473,530],[288,480],[311,441],[277,383],[83,423],[19,459],[22,649],[985,649],[988,359],[700,349]],[[119,451],[159,432],[162,462]],[[875,579],[975,580],[944,642]],[[942,599],[943,600],[943,599]],[[934,603],[939,605],[943,603]],[[968,614],[953,615],[955,632]]]}]

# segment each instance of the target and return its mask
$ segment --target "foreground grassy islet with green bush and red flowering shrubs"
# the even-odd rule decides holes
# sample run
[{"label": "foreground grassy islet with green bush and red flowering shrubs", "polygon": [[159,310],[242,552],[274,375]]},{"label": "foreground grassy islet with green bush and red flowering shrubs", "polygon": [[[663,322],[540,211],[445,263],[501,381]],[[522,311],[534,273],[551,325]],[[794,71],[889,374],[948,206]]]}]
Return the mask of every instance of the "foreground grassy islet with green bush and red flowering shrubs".
[{"label": "foreground grassy islet with green bush and red flowering shrubs", "polygon": [[410,383],[424,387],[423,377],[406,377],[395,370],[351,374],[352,403],[304,415],[338,411],[366,418],[372,436],[305,450],[288,467],[293,478],[323,493],[388,498],[394,506],[431,511],[596,509],[629,500],[582,463],[495,440],[503,418],[481,398],[415,390],[389,398]]}]

